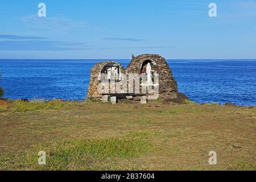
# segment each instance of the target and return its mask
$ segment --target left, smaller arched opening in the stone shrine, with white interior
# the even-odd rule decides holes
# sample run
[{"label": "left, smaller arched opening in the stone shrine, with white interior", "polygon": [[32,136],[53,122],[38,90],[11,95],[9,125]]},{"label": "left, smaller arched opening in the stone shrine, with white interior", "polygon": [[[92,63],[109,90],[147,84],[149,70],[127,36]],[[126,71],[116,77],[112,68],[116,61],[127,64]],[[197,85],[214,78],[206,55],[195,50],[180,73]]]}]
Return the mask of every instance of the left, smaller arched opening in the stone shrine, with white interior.
[{"label": "left, smaller arched opening in the stone shrine, with white interior", "polygon": [[108,63],[101,70],[102,80],[121,81],[121,70],[117,63]]}]

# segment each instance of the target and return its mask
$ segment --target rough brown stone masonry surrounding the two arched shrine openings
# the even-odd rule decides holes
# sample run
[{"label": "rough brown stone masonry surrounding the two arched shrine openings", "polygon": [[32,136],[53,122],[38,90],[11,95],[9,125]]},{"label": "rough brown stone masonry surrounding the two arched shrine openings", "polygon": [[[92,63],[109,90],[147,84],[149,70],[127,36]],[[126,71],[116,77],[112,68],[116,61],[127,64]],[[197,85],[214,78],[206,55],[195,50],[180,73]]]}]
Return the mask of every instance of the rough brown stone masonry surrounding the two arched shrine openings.
[{"label": "rough brown stone masonry surrounding the two arched shrine openings", "polygon": [[121,64],[115,63],[114,61],[100,62],[94,65],[90,73],[87,98],[102,98],[102,95],[98,93],[97,86],[101,82],[100,73],[106,64],[115,63],[119,65],[121,73],[125,73],[126,75],[129,73],[141,74],[141,68],[144,61],[150,61],[154,66],[154,70],[159,73],[159,97],[164,100],[177,98],[177,82],[174,77],[172,77],[169,65],[163,57],[152,54],[145,54],[137,57],[133,56],[133,59],[126,69],[123,69]]}]

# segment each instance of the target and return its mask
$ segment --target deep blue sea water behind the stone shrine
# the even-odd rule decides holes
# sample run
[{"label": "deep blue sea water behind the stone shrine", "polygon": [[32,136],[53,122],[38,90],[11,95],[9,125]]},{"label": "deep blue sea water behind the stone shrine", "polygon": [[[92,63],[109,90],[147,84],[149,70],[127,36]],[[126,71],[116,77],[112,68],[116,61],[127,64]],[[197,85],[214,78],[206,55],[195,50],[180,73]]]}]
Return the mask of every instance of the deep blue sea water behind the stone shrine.
[{"label": "deep blue sea water behind the stone shrine", "polygon": [[[102,60],[0,60],[11,99],[84,100],[90,69]],[[124,67],[130,60],[115,60]],[[179,92],[198,103],[256,105],[256,60],[167,60]]]}]

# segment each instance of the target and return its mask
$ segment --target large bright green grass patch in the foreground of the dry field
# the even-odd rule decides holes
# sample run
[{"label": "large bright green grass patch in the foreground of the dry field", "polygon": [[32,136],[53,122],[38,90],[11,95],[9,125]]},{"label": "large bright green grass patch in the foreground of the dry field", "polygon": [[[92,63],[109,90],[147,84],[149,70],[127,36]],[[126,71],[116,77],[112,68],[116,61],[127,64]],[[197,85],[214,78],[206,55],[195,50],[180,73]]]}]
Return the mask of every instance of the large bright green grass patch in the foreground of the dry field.
[{"label": "large bright green grass patch in the foreground of the dry field", "polygon": [[[121,137],[66,140],[53,147],[39,146],[38,151],[47,154],[47,164],[38,165],[37,150],[28,155],[28,166],[43,170],[67,170],[82,168],[89,170],[97,167],[97,162],[115,158],[132,158],[152,150],[148,134],[136,132]],[[94,163],[92,165],[92,163]],[[75,166],[72,166],[75,165]],[[99,167],[99,166],[98,166]]]}]

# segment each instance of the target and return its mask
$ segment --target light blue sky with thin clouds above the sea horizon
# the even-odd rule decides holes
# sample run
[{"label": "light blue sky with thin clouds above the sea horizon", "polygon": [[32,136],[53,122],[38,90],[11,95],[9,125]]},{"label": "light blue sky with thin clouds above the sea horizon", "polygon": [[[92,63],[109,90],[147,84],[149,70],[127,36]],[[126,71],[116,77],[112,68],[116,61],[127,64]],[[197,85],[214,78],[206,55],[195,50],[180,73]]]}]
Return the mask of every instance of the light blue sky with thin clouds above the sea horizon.
[{"label": "light blue sky with thin clouds above the sea horizon", "polygon": [[256,0],[9,0],[0,23],[0,58],[256,58]]}]

